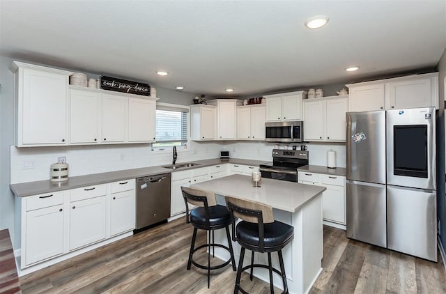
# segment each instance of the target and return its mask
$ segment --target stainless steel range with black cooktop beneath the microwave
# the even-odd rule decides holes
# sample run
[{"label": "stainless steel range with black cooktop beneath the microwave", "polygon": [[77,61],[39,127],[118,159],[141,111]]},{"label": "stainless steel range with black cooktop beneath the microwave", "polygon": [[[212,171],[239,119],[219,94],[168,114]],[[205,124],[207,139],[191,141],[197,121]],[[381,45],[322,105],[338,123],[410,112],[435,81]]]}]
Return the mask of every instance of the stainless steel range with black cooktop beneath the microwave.
[{"label": "stainless steel range with black cooktop beneath the microwave", "polygon": [[308,164],[308,151],[272,150],[272,162],[260,164],[263,178],[275,178],[289,182],[298,181],[298,167]]}]

